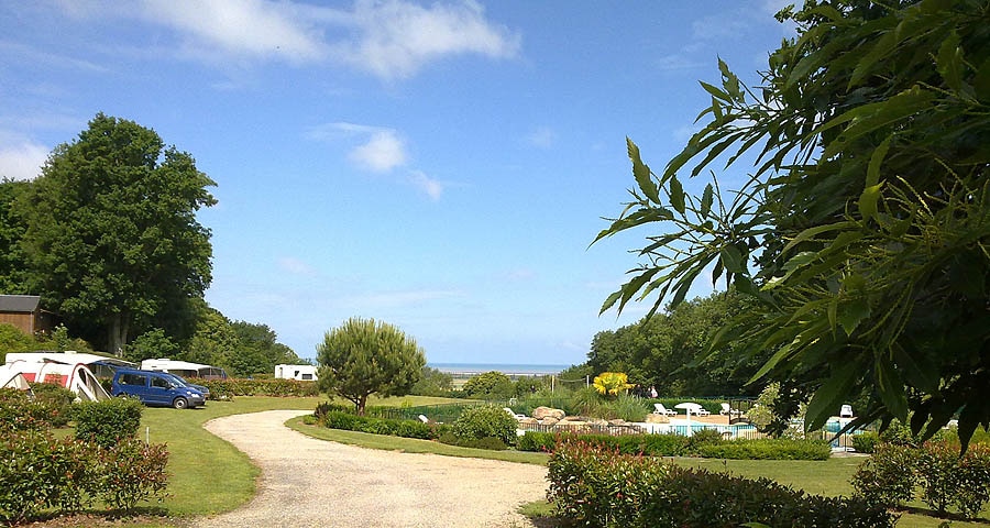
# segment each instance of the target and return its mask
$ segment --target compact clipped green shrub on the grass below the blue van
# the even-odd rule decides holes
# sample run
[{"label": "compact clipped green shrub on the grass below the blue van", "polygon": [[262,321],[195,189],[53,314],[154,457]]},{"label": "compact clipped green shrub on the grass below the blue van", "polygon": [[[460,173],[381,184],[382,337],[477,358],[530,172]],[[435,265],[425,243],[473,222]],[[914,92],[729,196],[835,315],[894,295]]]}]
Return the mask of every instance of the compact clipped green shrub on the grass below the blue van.
[{"label": "compact clipped green shrub on the grass below the blue van", "polygon": [[73,408],[76,438],[105,448],[134,438],[141,427],[144,406],[134,398],[111,398],[103,402],[80,402]]}]

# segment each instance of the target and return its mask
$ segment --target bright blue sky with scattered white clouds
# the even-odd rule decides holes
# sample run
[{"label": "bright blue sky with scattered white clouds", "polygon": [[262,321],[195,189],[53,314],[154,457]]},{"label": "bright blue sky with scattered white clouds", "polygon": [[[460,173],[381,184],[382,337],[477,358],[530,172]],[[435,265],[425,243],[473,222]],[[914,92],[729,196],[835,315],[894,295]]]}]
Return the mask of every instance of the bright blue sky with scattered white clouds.
[{"label": "bright blue sky with scattered white clouds", "polygon": [[218,184],[229,318],[304,358],[356,316],[430,362],[581,363],[647,308],[598,316],[648,233],[588,248],[625,138],[662,166],[717,57],[755,84],[792,36],[785,3],[0,0],[0,175],[134,120]]}]

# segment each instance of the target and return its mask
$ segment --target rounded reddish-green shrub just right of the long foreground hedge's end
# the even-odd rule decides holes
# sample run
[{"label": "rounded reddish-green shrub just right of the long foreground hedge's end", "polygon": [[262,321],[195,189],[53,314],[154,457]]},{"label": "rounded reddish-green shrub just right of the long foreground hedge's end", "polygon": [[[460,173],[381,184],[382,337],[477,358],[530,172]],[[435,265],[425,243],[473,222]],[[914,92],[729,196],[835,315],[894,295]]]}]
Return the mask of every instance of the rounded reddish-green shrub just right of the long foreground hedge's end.
[{"label": "rounded reddish-green shrub just right of the long foreground hedge's end", "polygon": [[910,502],[917,485],[916,458],[910,446],[880,443],[853,475],[853,490],[866,502],[888,508]]}]

